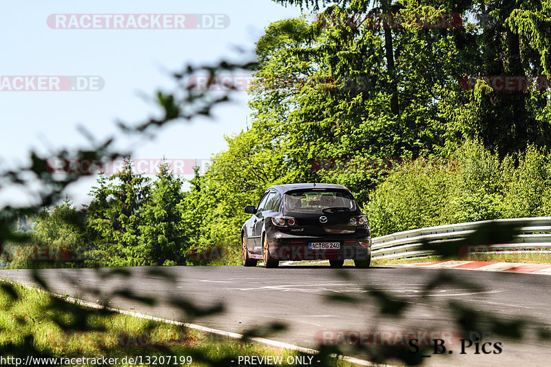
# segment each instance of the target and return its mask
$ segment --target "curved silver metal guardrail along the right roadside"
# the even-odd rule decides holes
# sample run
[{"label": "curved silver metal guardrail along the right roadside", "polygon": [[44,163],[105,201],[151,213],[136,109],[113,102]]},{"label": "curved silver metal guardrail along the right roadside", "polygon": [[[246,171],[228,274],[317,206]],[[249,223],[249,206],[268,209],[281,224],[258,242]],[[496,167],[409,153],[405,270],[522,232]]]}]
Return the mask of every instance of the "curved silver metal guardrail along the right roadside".
[{"label": "curved silver metal guardrail along the right roadside", "polygon": [[[518,227],[515,228],[515,231],[519,234],[514,235],[510,242],[504,244],[469,246],[470,253],[495,253],[497,251],[551,253],[551,217],[538,217],[447,224],[383,235],[372,239],[371,256],[373,259],[397,259],[433,255],[434,251],[424,248],[424,244],[443,244],[464,240],[481,224],[490,222],[517,224]],[[477,249],[482,251],[477,251]],[[549,251],[541,251],[542,249]]]}]

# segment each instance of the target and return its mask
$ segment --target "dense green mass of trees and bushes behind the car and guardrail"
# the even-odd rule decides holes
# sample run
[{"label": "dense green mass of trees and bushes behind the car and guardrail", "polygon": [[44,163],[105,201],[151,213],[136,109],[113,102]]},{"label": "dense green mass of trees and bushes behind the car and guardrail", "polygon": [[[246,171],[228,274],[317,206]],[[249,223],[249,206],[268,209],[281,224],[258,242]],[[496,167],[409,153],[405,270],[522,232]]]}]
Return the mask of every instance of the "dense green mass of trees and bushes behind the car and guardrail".
[{"label": "dense green mass of trees and bushes behind the car and guardrail", "polygon": [[[551,214],[550,89],[484,78],[549,74],[549,1],[279,2],[324,10],[259,39],[252,127],[227,138],[191,193],[212,204],[197,242],[238,249],[242,207],[283,182],[346,185],[375,235]],[[464,23],[362,23],[381,13]]]}]

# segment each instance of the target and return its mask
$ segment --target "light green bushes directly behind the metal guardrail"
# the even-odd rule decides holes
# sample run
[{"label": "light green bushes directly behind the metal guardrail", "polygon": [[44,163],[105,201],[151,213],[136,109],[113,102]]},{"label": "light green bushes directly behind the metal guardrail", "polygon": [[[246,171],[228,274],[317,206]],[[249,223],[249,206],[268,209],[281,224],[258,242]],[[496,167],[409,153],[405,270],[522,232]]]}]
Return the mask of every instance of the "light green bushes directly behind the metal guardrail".
[{"label": "light green bushes directly behind the metal guardrail", "polygon": [[374,236],[422,227],[551,215],[550,156],[534,147],[499,156],[476,141],[452,159],[418,159],[389,174],[369,196]]}]

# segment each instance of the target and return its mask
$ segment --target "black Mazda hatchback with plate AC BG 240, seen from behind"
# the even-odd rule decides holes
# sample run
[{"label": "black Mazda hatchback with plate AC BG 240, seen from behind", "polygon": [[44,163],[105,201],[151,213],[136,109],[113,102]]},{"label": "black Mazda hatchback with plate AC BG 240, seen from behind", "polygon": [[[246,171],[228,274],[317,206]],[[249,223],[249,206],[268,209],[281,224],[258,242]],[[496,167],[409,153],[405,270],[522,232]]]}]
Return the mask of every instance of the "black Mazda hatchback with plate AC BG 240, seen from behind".
[{"label": "black Mazda hatchback with plate AC BG 240, seen from behind", "polygon": [[367,217],[351,191],[342,185],[302,183],[270,187],[241,229],[244,266],[264,261],[329,260],[340,267],[353,259],[356,267],[371,262]]}]

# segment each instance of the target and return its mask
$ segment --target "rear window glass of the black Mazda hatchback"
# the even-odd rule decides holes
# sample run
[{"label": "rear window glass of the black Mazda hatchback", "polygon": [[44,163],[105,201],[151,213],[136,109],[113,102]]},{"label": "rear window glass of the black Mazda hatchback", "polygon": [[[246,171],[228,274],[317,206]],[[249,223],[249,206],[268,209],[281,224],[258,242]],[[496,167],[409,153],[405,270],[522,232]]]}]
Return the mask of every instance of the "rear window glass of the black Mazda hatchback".
[{"label": "rear window glass of the black Mazda hatchback", "polygon": [[286,193],[285,207],[297,213],[355,211],[357,208],[352,194],[348,191],[315,189]]}]

